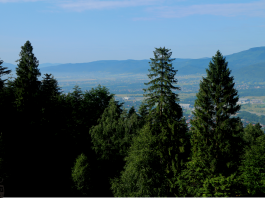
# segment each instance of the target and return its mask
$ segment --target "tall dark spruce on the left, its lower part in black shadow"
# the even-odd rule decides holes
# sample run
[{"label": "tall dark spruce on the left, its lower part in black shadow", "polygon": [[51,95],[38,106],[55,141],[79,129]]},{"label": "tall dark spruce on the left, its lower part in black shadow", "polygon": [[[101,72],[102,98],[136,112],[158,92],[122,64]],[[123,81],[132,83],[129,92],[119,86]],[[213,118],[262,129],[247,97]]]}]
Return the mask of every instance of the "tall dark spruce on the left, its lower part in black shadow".
[{"label": "tall dark spruce on the left, its lower part in black shadow", "polygon": [[[16,124],[20,130],[12,131],[14,153],[11,154],[15,162],[12,167],[12,193],[23,191],[21,189],[21,178],[31,186],[28,197],[34,196],[41,189],[40,180],[36,172],[40,171],[40,133],[38,126],[41,117],[39,100],[39,89],[41,82],[38,77],[41,75],[38,69],[39,61],[33,54],[33,47],[29,41],[21,47],[17,78],[15,79],[15,106],[17,109]],[[37,155],[36,155],[37,153]],[[23,162],[23,163],[21,163]],[[32,166],[32,164],[34,164]],[[34,192],[35,191],[35,192]],[[36,195],[36,194],[35,194]],[[10,195],[11,196],[11,195]],[[18,196],[18,195],[12,195]]]}]

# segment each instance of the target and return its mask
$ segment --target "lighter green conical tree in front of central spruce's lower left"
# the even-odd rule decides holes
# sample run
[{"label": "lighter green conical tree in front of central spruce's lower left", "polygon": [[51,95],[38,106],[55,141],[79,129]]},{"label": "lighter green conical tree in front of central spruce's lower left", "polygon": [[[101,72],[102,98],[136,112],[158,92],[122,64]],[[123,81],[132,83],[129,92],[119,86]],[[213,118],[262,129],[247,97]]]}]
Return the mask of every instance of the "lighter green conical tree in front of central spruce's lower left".
[{"label": "lighter green conical tree in front of central spruce's lower left", "polygon": [[164,170],[155,149],[156,140],[148,123],[133,138],[121,176],[111,179],[114,197],[165,197]]}]

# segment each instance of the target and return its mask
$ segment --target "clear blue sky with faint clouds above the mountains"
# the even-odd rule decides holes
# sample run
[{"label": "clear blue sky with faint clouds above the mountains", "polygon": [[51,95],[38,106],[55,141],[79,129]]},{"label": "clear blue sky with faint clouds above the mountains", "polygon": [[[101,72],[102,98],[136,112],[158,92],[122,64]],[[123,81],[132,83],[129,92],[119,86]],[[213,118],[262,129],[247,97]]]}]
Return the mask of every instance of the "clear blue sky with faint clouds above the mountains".
[{"label": "clear blue sky with faint clouds above the mountains", "polygon": [[212,57],[265,46],[265,0],[0,0],[0,59],[42,63]]}]

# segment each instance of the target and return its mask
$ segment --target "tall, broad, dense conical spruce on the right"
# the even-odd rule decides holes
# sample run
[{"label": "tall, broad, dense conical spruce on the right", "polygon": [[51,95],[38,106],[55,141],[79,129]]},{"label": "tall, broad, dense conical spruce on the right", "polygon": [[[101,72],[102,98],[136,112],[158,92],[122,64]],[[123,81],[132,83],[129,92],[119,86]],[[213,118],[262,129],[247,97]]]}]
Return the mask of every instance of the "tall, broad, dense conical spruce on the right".
[{"label": "tall, broad, dense conical spruce on the right", "polygon": [[182,197],[235,197],[242,191],[240,173],[244,143],[240,110],[231,70],[222,54],[216,55],[200,82],[191,120],[191,161],[182,172]]}]

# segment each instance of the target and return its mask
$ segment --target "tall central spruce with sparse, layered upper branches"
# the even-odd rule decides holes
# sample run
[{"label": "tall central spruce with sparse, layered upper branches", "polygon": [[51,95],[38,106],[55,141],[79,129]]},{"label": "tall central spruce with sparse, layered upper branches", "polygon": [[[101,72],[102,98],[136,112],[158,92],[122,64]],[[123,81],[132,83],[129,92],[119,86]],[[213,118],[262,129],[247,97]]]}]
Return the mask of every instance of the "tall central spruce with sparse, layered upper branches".
[{"label": "tall central spruce with sparse, layered upper branches", "polygon": [[[181,167],[187,161],[187,125],[182,119],[182,108],[178,104],[178,94],[173,90],[180,90],[173,84],[177,84],[170,59],[172,52],[169,49],[156,48],[155,58],[151,58],[151,69],[148,77],[151,79],[145,85],[151,85],[143,89],[149,115],[147,121],[151,122],[152,131],[158,138],[157,152],[161,157],[161,165],[165,166],[165,178],[167,182],[167,195],[177,196],[176,176],[181,173]],[[156,108],[154,108],[156,106]]]}]

